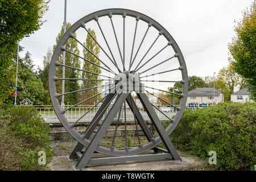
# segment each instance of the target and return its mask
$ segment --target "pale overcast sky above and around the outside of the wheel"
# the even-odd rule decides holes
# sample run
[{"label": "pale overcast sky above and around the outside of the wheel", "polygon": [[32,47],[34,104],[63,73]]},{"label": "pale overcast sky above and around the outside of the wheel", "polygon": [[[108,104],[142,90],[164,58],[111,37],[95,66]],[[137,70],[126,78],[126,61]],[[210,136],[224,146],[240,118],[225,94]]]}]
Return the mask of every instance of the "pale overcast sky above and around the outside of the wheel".
[{"label": "pale overcast sky above and around the outside of the wheel", "polygon": [[[67,0],[67,22],[75,23],[97,10],[124,8],[139,11],[162,24],[174,37],[184,55],[188,76],[213,76],[228,63],[228,43],[234,36],[234,19],[252,0]],[[39,31],[20,43],[42,67],[43,56],[55,44],[64,20],[64,0],[52,0]],[[134,32],[134,25],[130,29]],[[96,34],[97,35],[97,34]],[[84,41],[84,40],[83,40]]]}]

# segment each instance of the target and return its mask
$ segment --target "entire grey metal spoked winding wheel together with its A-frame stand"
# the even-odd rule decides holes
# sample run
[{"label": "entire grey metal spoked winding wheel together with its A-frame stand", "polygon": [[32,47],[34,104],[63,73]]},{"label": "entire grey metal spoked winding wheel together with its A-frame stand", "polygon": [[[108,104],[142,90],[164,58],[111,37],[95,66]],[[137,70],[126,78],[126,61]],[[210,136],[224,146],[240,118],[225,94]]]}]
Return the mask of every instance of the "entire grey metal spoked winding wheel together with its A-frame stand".
[{"label": "entire grey metal spoked winding wheel together with its A-frame stand", "polygon": [[[121,16],[122,18],[122,38],[118,39],[117,31],[115,30],[115,24],[114,24],[114,16]],[[132,47],[126,47],[126,18],[127,17],[134,19],[134,36],[133,36],[133,46]],[[114,34],[114,43],[113,45],[108,42],[109,37],[106,37],[104,34],[104,29],[101,27],[100,22],[101,18],[109,18],[110,19],[110,27],[113,29]],[[94,22],[95,21],[95,22]],[[93,36],[88,31],[88,27],[86,26],[87,23],[96,23],[101,35],[102,35],[102,42],[100,42],[99,39],[94,39]],[[146,32],[143,35],[142,40],[138,41],[137,48],[135,49],[135,42],[138,34],[138,24],[140,22],[143,22],[144,24],[147,24]],[[156,36],[156,39],[151,40],[152,44],[150,46],[146,46],[144,44],[144,40],[146,39],[148,31],[151,29],[154,29],[158,32],[158,35]],[[98,44],[101,51],[105,53],[106,57],[108,57],[108,61],[100,59],[100,57],[97,57],[94,55],[92,51],[90,51],[84,44],[82,44],[75,36],[74,33],[77,32],[79,29],[84,29],[86,32],[88,32],[88,35],[92,37],[94,42]],[[120,34],[119,34],[120,35]],[[153,56],[150,57],[148,60],[144,60],[148,52],[150,52],[151,48],[154,46],[154,44],[159,40],[159,38],[162,37],[165,43],[165,46],[160,49],[160,51],[153,54]],[[68,39],[75,39],[77,43],[79,43],[83,48],[85,48],[89,53],[91,53],[98,61],[100,61],[100,65],[93,63],[90,60],[85,59],[84,57],[80,55],[76,55],[75,53],[69,51],[64,47],[65,43],[68,41]],[[122,40],[123,44],[119,44]],[[145,41],[146,42],[146,41]],[[144,44],[143,44],[144,43]],[[102,45],[105,44],[106,47],[104,48]],[[122,46],[122,47],[121,47]],[[117,54],[118,58],[114,56],[114,51],[112,51],[112,48],[117,48]],[[138,55],[140,51],[143,51],[143,47],[147,49],[146,53],[144,53],[142,59],[138,59]],[[106,48],[108,49],[108,52],[106,52]],[[123,48],[121,50],[121,48]],[[131,55],[126,56],[126,48],[131,50]],[[164,49],[167,49],[167,51],[174,52],[174,55],[171,57],[168,57],[168,59],[165,59],[164,61],[152,61],[155,57],[158,57],[160,52],[162,52]],[[112,74],[110,76],[105,76],[103,74],[98,74],[94,72],[89,72],[84,69],[71,67],[69,65],[64,65],[58,62],[59,56],[61,52],[65,51],[66,53],[70,53],[73,56],[78,56],[80,59],[87,61],[90,64],[93,64],[105,72],[109,72],[109,74]],[[143,51],[144,52],[144,51]],[[169,60],[174,61],[176,59],[177,63],[179,64],[178,68],[175,69],[167,69],[166,71],[162,71],[159,73],[152,72],[155,67],[158,67],[159,65],[162,65],[164,63],[167,63]],[[119,62],[118,62],[119,60]],[[149,62],[151,64],[149,64]],[[119,64],[118,64],[119,63]],[[103,64],[105,67],[101,66]],[[121,65],[121,67],[119,66]],[[171,65],[171,64],[168,64]],[[148,66],[148,67],[147,67]],[[84,104],[86,101],[89,101],[90,99],[97,97],[101,94],[104,94],[108,92],[104,97],[101,98],[100,101],[98,101],[90,110],[94,109],[94,107],[97,107],[98,105],[101,106],[97,110],[97,113],[94,115],[94,118],[90,122],[90,125],[87,127],[84,134],[80,134],[76,129],[75,125],[77,122],[80,121],[82,117],[86,115],[83,114],[79,119],[77,119],[76,122],[69,122],[68,119],[65,117],[65,112],[71,109],[72,107],[69,107],[67,109],[62,109],[60,105],[60,97],[63,95],[71,94],[71,93],[78,93],[78,92],[85,92],[86,90],[91,89],[97,89],[104,86],[95,86],[93,88],[83,88],[81,90],[74,90],[72,92],[68,93],[57,93],[56,92],[56,81],[58,80],[87,80],[87,81],[98,81],[99,79],[90,79],[90,78],[58,78],[56,77],[56,71],[58,67],[65,67],[69,69],[76,69],[80,72],[87,72],[91,73],[93,75],[99,75],[101,77],[105,77],[108,79],[100,79],[100,80],[114,80],[114,84],[109,85],[108,89],[104,90],[103,92],[97,93],[96,95],[86,98],[83,101],[78,102],[77,104],[73,105],[81,105]],[[144,67],[144,70],[142,69]],[[115,72],[117,71],[117,72]],[[150,73],[151,71],[151,73]],[[177,81],[170,81],[170,80],[154,80],[155,75],[162,75],[166,74],[165,77],[168,77],[168,73],[170,72],[177,72],[177,75],[180,74],[182,77],[182,80]],[[146,73],[146,75],[144,74]],[[148,80],[143,80],[142,78],[145,77],[151,77]],[[180,82],[182,86],[182,93],[172,93],[165,90],[161,90],[159,88],[154,88],[151,86],[147,86],[149,82],[156,82],[158,84],[166,84],[166,83],[175,83]],[[146,90],[147,89],[147,90]],[[179,106],[174,106],[171,103],[167,102],[166,100],[163,100],[163,98],[160,98],[156,96],[160,101],[166,102],[166,104],[174,107],[177,110],[177,113],[174,118],[167,117],[167,120],[171,120],[171,124],[167,127],[167,129],[164,129],[162,123],[160,122],[158,115],[156,115],[156,110],[158,109],[154,105],[150,103],[148,100],[149,95],[153,95],[155,93],[151,93],[148,91],[148,89],[157,90],[160,92],[166,92],[169,94],[175,94],[180,98],[180,104]],[[146,110],[146,113],[148,117],[150,118],[152,125],[154,126],[157,135],[153,135],[148,129],[148,126],[146,125],[146,122],[143,119],[142,114],[138,110],[137,105],[135,104],[132,93],[136,93],[139,100],[141,101],[144,110]],[[175,129],[176,125],[179,123],[181,115],[183,114],[183,111],[185,109],[185,104],[187,101],[187,94],[188,94],[188,75],[187,75],[187,68],[185,65],[184,57],[180,51],[180,48],[177,46],[177,43],[172,38],[172,36],[168,33],[168,31],[162,27],[158,22],[156,22],[154,19],[138,13],[137,11],[133,10],[126,10],[126,9],[106,9],[106,10],[100,10],[96,11],[92,14],[84,16],[84,18],[81,18],[78,20],[75,24],[70,27],[67,32],[63,35],[63,37],[60,39],[59,43],[57,44],[55,51],[52,55],[52,60],[49,68],[49,93],[51,96],[51,102],[53,105],[53,108],[55,109],[56,115],[59,118],[60,122],[63,124],[65,129],[69,132],[69,134],[72,135],[73,138],[75,138],[79,143],[73,150],[72,154],[68,157],[69,160],[75,160],[79,159],[79,162],[74,166],[74,169],[83,169],[86,167],[87,164],[100,164],[100,163],[110,163],[110,162],[123,162],[126,160],[148,160],[148,159],[160,159],[160,158],[171,158],[174,160],[180,160],[180,156],[177,154],[174,145],[172,144],[171,140],[169,139],[169,135],[172,133],[172,131]],[[111,109],[106,114],[106,117],[104,117],[104,121],[101,120],[102,116],[106,113],[106,110],[110,106],[110,103],[114,100],[114,104],[112,105]],[[137,129],[137,136],[138,137],[138,146],[137,147],[127,147],[127,133],[126,133],[126,112],[125,112],[125,144],[123,148],[116,148],[114,146],[115,142],[115,134],[118,127],[118,121],[121,113],[122,106],[124,107],[130,107],[131,111],[134,114],[134,122]],[[89,112],[88,111],[88,112]],[[126,111],[126,109],[124,110]],[[158,111],[160,111],[158,109]],[[162,113],[162,111],[160,111]],[[164,113],[163,113],[164,114]],[[104,134],[109,129],[109,126],[114,121],[115,116],[118,115],[117,119],[117,125],[113,137],[113,142],[111,147],[104,147],[100,145],[102,137],[104,137]],[[165,114],[164,114],[165,115]],[[96,127],[100,125],[97,129]],[[138,135],[138,127],[141,127],[148,143],[142,144],[140,137]],[[166,149],[158,147],[158,144],[161,142],[164,143],[164,146]],[[84,151],[82,151],[85,148]],[[142,154],[145,151],[154,149],[156,152],[163,152],[158,154],[149,154],[149,155],[139,155]],[[100,152],[101,154],[108,155],[106,158],[99,158],[99,159],[91,159],[91,156],[94,152]]]}]

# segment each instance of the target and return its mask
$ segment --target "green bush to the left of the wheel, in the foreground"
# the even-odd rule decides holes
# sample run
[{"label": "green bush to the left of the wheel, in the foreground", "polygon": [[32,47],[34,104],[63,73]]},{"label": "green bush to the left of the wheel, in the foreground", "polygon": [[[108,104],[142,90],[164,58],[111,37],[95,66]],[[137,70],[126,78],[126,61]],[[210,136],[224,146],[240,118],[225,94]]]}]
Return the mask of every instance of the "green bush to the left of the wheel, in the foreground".
[{"label": "green bush to the left of the wheel, in the foreground", "polygon": [[[51,140],[50,129],[44,119],[40,118],[38,111],[30,106],[8,106],[2,108],[0,114],[2,115],[0,132],[17,140],[16,144],[14,143],[16,145],[16,163],[14,164],[18,166],[16,168],[20,170],[46,169],[46,165],[38,163],[40,157],[38,152],[46,152],[46,164],[51,161],[52,150],[48,144]],[[9,169],[13,168],[15,167]]]}]

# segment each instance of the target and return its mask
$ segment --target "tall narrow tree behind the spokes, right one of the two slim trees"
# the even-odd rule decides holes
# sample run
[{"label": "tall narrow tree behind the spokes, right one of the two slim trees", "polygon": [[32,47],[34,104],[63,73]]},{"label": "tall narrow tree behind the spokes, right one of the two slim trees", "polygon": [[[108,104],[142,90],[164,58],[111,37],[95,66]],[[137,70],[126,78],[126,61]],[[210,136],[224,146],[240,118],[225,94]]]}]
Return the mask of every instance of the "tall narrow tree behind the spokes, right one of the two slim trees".
[{"label": "tall narrow tree behind the spokes, right one of the two slim trees", "polygon": [[[88,28],[88,31],[93,36],[93,38],[97,40],[94,30],[91,30],[90,28]],[[90,50],[90,52],[92,52],[94,55],[96,55],[98,57],[98,56],[100,56],[100,47],[93,40],[93,38],[89,34],[87,34],[86,42],[84,43],[84,46],[86,48],[88,48]],[[84,48],[83,51],[82,51],[82,53],[84,55],[84,58],[86,60],[89,60],[89,61],[97,64],[97,65],[100,65],[100,61],[98,59],[96,59],[96,57],[94,57],[92,55],[92,53],[90,53],[90,52],[87,51]],[[84,60],[84,65],[83,65],[82,69],[84,69],[86,71],[94,72],[94,73],[99,73],[99,74],[101,73],[101,69],[99,67],[97,67],[96,65],[93,65],[93,64],[91,64],[91,63],[89,63],[88,61],[85,61],[85,60]],[[98,77],[97,75],[94,75],[92,73],[82,72],[82,78],[98,79],[100,77]],[[101,84],[100,81],[84,80],[84,81],[82,81],[82,88],[92,88],[92,87],[98,86],[100,84]],[[91,97],[95,94],[97,94],[97,89],[87,90],[87,91],[82,93],[82,98],[81,99],[84,100],[85,98]],[[88,101],[87,103],[89,103],[89,102],[90,103],[95,102],[95,98],[94,98],[94,100],[92,99],[92,100]]]}]

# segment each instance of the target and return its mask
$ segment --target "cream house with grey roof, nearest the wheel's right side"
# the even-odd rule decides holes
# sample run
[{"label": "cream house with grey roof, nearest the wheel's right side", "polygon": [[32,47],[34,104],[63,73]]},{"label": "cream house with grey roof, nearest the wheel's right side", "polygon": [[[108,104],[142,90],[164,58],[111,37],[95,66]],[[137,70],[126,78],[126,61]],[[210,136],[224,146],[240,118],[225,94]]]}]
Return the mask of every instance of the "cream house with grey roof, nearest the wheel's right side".
[{"label": "cream house with grey roof, nearest the wheel's right side", "polygon": [[[197,103],[197,104],[213,104],[213,97],[215,97],[215,104],[219,102],[224,102],[224,94],[215,88],[196,88],[188,92],[187,104]],[[215,95],[214,95],[215,94]]]}]

